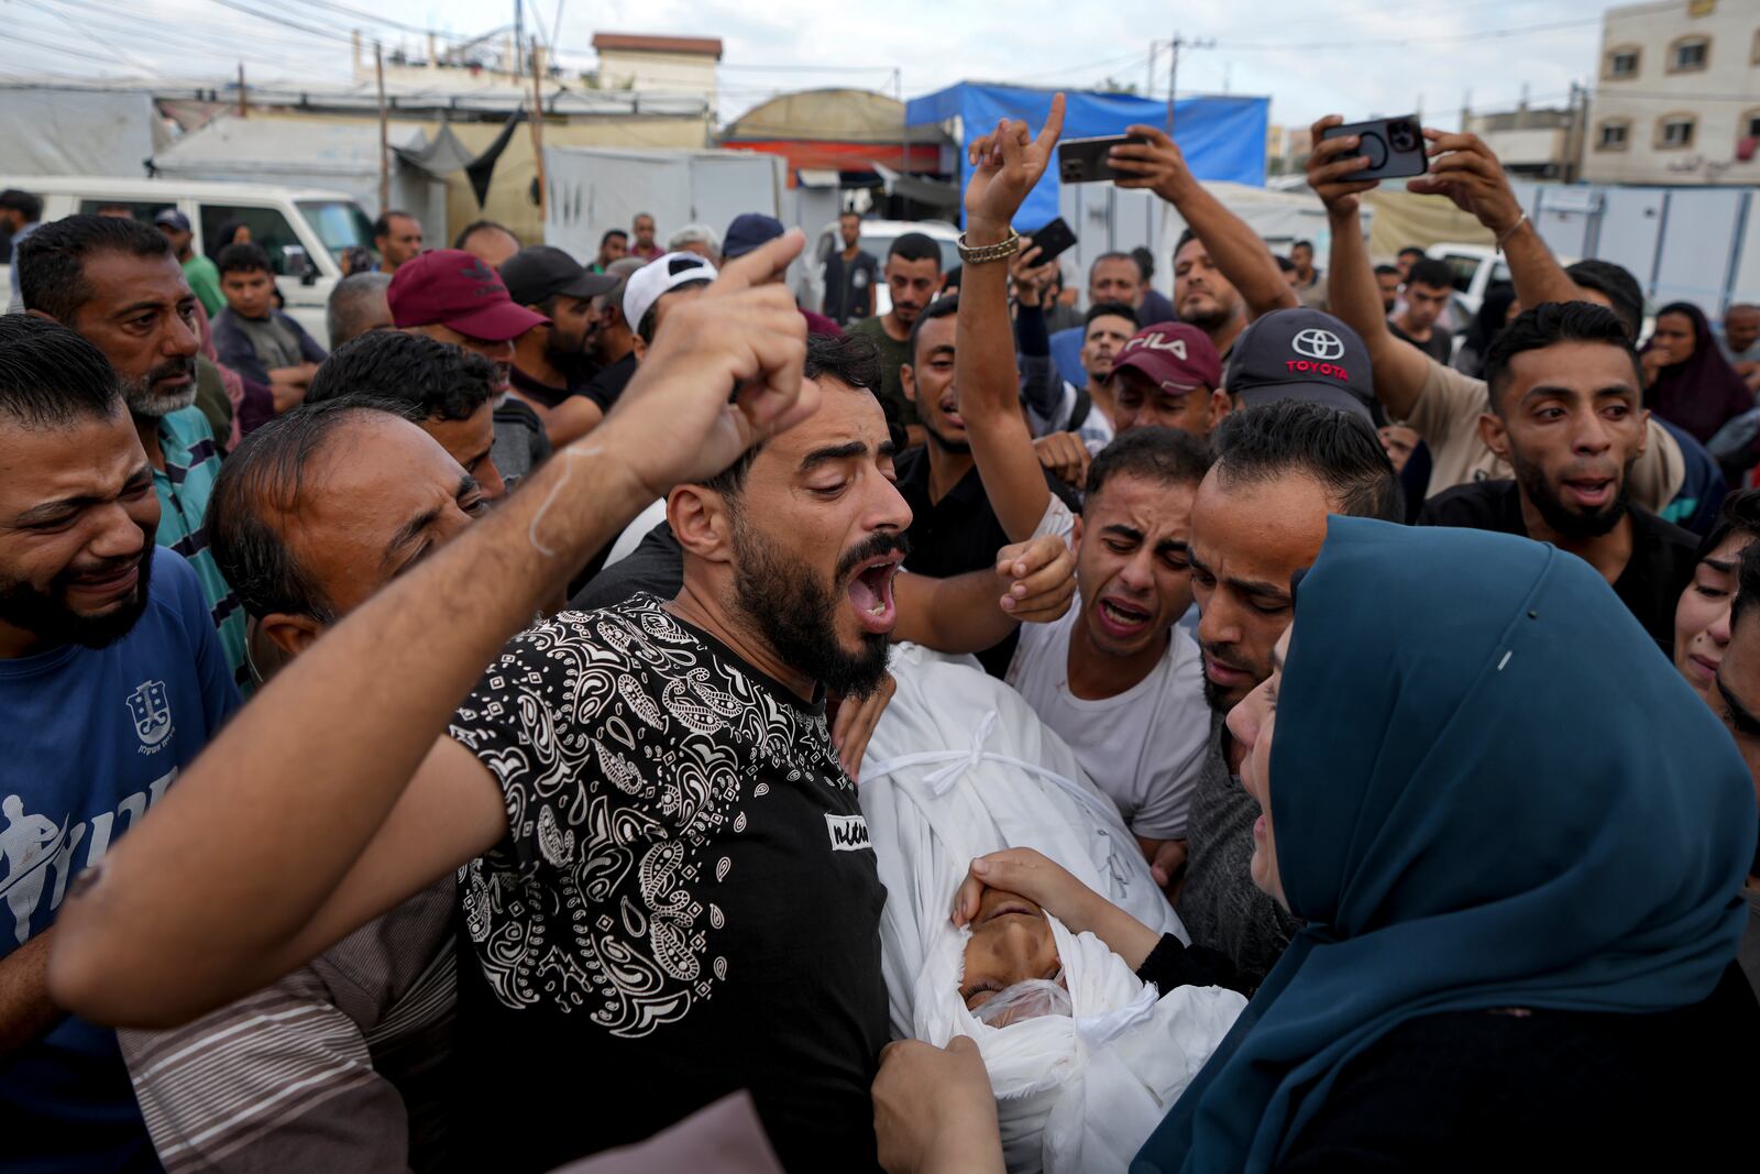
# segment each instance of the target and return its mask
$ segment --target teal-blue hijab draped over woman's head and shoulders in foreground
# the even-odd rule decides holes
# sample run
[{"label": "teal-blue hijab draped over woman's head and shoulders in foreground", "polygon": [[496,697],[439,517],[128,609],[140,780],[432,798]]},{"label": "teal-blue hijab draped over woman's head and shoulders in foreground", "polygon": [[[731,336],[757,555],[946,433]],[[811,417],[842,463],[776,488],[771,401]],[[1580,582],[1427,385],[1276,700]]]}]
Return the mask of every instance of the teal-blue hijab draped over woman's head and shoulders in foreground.
[{"label": "teal-blue hijab draped over woman's head and shoulders in foreground", "polygon": [[1132,1174],[1274,1167],[1345,1065],[1417,1016],[1670,1010],[1735,958],[1748,771],[1573,554],[1332,517],[1269,774],[1308,926]]}]

